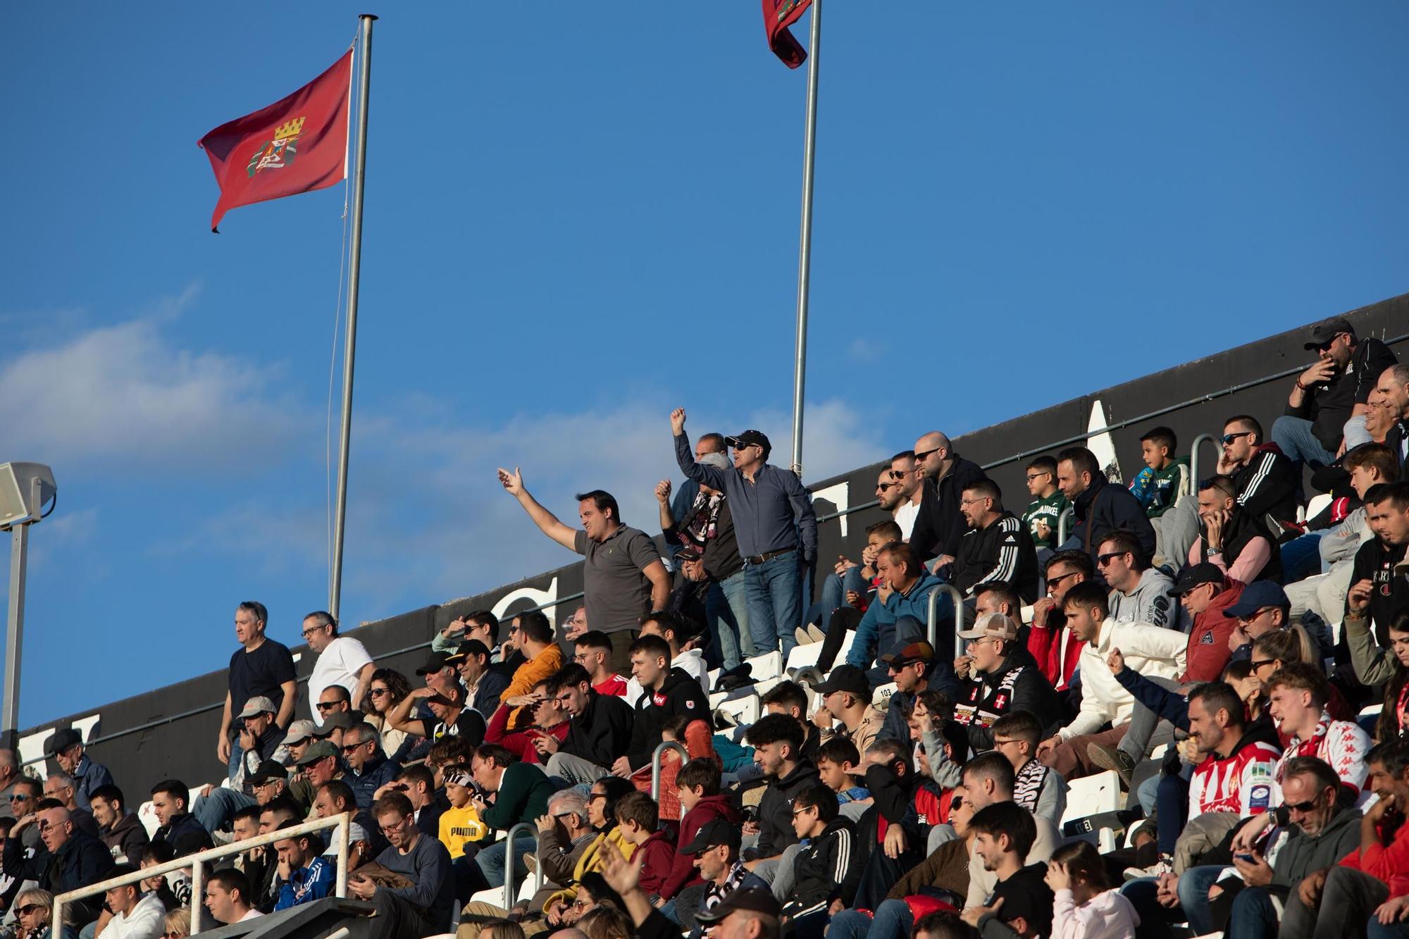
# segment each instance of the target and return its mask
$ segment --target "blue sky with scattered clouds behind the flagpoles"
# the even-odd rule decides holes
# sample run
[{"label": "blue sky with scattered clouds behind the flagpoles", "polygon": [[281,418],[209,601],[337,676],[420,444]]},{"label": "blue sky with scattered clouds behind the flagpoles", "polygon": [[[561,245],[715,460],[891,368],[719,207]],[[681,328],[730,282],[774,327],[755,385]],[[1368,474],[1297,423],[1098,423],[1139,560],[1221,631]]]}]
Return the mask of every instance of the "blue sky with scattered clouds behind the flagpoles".
[{"label": "blue sky with scattered clouds behind the flagpoles", "polygon": [[[10,10],[0,461],[61,488],[25,726],[223,667],[241,599],[289,643],[325,603],[342,188],[213,235],[196,141],[361,7],[238,10]],[[526,10],[376,27],[347,622],[571,560],[499,464],[651,527],[676,403],[789,436],[803,72],[752,1]],[[1403,292],[1406,20],[830,0],[807,479]]]}]

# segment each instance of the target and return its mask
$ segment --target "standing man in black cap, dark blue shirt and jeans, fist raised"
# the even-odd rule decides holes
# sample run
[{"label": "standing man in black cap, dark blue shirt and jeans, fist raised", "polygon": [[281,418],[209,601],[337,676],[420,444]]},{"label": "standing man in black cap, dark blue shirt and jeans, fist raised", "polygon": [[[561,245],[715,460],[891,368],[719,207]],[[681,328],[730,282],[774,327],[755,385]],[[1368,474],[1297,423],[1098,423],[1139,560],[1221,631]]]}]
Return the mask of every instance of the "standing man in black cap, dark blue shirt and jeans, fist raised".
[{"label": "standing man in black cap, dark blue shirt and jeans, fist raised", "polygon": [[797,644],[802,625],[802,571],[817,560],[817,515],[812,493],[788,470],[768,464],[772,444],[758,430],[724,441],[734,450],[733,470],[695,462],[685,436],[685,409],[671,412],[675,461],[688,478],[724,492],[744,558],[748,630],[759,654]]}]

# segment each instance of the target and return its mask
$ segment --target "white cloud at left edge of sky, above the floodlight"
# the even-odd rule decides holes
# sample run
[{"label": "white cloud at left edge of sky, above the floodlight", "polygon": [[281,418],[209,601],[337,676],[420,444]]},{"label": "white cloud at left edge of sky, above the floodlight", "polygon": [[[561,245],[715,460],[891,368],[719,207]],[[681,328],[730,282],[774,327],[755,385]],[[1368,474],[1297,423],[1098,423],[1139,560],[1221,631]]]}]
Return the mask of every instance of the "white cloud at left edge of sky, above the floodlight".
[{"label": "white cloud at left edge of sky, above the floodlight", "polygon": [[240,447],[289,443],[302,417],[271,392],[278,367],[185,348],[169,324],[199,288],[144,316],[76,331],[0,368],[7,453],[76,465],[240,471]]}]

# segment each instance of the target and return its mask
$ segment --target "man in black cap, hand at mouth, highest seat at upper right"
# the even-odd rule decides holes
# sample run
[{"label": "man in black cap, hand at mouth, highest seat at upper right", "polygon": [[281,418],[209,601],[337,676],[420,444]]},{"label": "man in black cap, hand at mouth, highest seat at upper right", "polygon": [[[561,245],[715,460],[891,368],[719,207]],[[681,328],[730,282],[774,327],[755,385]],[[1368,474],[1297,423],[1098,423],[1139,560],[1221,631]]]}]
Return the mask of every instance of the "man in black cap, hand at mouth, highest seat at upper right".
[{"label": "man in black cap, hand at mouth, highest seat at upper right", "polygon": [[1286,413],[1272,423],[1272,443],[1296,462],[1330,465],[1363,443],[1365,402],[1375,382],[1395,364],[1395,354],[1377,338],[1357,338],[1343,316],[1312,327],[1305,343],[1316,364],[1296,376],[1286,395]]}]

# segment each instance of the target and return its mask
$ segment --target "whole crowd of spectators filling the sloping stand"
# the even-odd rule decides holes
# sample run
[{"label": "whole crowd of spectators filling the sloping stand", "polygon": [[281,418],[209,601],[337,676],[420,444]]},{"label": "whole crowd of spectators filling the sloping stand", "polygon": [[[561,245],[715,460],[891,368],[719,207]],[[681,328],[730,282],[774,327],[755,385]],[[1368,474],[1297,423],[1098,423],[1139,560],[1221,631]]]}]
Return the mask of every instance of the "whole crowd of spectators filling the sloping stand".
[{"label": "whole crowd of spectators filling the sloping stand", "polygon": [[[1409,367],[1339,317],[1306,348],[1285,413],[1230,416],[1205,479],[1150,427],[1129,484],[1068,447],[1029,462],[1019,510],[921,434],[879,470],[859,561],[821,571],[810,495],[757,430],[692,446],[669,415],[664,551],[610,493],[571,527],[500,470],[585,558],[561,640],[540,610],[475,610],[403,675],[314,612],[300,696],[240,603],[223,782],[137,792],[70,730],[42,784],[0,750],[0,905],[42,939],[61,892],[348,815],[348,895],[395,939],[1409,936]],[[931,644],[945,587],[962,609]],[[759,656],[813,644],[757,719],[716,711]],[[1064,829],[1098,773],[1124,808]],[[90,895],[61,932],[314,902],[324,836],[232,853],[200,897],[189,869]],[[526,870],[535,895],[485,892]]]}]

